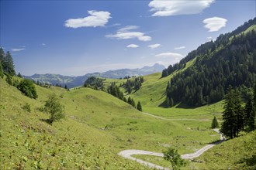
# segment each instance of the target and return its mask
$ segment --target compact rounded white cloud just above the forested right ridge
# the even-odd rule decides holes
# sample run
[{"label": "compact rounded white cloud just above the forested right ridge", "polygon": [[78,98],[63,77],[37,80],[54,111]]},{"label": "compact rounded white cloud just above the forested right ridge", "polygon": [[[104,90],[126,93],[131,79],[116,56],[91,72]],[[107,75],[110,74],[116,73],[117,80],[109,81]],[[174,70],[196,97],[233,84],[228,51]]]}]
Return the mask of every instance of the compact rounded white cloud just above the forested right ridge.
[{"label": "compact rounded white cloud just above the forested right ridge", "polygon": [[202,22],[206,24],[206,26],[204,27],[206,29],[209,29],[209,32],[216,32],[226,26],[227,19],[213,17],[209,19],[204,19]]}]

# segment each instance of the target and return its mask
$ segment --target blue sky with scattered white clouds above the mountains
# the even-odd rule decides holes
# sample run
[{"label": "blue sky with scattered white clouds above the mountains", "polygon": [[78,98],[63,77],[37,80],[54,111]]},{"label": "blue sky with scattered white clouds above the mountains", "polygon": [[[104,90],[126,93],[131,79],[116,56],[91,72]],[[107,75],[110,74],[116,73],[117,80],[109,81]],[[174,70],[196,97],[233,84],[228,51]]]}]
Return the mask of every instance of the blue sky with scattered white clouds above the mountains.
[{"label": "blue sky with scattered white clouds above the mountains", "polygon": [[177,63],[255,17],[255,1],[1,1],[16,72],[84,75]]}]

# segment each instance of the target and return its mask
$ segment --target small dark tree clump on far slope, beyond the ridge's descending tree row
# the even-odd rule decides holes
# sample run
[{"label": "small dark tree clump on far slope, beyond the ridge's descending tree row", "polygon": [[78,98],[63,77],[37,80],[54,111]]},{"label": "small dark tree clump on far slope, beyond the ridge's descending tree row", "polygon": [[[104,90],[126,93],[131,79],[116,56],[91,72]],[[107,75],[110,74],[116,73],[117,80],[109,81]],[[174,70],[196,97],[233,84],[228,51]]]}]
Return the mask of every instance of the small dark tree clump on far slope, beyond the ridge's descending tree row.
[{"label": "small dark tree clump on far slope, beyond the ridge's descending tree row", "polygon": [[132,93],[133,90],[139,90],[141,83],[144,83],[144,77],[139,76],[135,79],[127,78],[126,83],[123,83],[123,87],[126,89],[127,93]]}]

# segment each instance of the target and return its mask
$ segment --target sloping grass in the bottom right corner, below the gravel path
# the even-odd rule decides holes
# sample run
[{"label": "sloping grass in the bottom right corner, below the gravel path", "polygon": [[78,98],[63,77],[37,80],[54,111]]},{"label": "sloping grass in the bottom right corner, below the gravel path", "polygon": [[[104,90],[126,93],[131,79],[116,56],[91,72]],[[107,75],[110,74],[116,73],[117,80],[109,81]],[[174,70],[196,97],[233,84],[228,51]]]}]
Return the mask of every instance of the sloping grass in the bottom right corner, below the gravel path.
[{"label": "sloping grass in the bottom right corner, below the gravel path", "polygon": [[256,131],[217,145],[193,165],[199,169],[256,169]]}]

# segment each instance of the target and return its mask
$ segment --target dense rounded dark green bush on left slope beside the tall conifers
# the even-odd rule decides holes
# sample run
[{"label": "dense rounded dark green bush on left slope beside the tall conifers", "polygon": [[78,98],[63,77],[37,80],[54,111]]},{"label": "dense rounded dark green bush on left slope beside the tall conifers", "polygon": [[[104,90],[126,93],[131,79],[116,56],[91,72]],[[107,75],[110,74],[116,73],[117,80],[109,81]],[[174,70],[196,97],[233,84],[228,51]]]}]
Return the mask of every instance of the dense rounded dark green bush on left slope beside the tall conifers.
[{"label": "dense rounded dark green bush on left slope beside the tall conifers", "polygon": [[32,80],[24,79],[19,83],[18,89],[27,97],[37,98],[36,87]]}]

